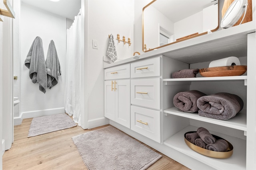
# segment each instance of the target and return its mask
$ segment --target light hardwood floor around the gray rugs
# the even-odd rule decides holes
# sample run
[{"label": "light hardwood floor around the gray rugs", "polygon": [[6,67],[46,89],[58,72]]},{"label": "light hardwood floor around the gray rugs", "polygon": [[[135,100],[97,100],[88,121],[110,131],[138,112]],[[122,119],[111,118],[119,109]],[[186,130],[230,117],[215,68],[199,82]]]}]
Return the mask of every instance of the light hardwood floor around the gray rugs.
[{"label": "light hardwood floor around the gray rugs", "polygon": [[[77,126],[28,138],[31,121],[32,118],[23,119],[21,125],[14,126],[14,143],[3,155],[3,170],[87,170],[71,138],[108,126],[87,130]],[[148,170],[189,169],[162,154]]]}]

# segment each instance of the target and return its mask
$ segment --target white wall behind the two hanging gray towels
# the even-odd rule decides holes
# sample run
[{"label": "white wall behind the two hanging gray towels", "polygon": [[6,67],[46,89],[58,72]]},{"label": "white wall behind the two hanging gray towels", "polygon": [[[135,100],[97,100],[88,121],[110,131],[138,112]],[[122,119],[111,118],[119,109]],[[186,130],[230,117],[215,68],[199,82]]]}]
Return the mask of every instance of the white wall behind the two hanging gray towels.
[{"label": "white wall behind the two hanging gray towels", "polygon": [[[30,46],[36,36],[42,39],[45,59],[50,40],[54,41],[62,71],[58,84],[52,89],[47,88],[45,94],[38,89],[38,83],[33,84],[31,82],[28,75],[29,69],[24,65]],[[22,117],[63,113],[66,82],[66,18],[22,3],[20,12],[20,42],[20,112]]]}]

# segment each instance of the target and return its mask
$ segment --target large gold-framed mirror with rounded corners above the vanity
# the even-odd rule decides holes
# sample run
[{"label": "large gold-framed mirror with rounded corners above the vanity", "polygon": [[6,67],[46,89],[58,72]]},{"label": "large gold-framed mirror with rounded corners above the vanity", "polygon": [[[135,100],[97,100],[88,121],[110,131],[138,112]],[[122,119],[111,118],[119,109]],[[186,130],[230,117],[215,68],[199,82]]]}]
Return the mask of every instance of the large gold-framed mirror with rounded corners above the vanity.
[{"label": "large gold-framed mirror with rounded corners above the vanity", "polygon": [[218,0],[153,0],[142,9],[142,50],[158,49],[218,27]]}]

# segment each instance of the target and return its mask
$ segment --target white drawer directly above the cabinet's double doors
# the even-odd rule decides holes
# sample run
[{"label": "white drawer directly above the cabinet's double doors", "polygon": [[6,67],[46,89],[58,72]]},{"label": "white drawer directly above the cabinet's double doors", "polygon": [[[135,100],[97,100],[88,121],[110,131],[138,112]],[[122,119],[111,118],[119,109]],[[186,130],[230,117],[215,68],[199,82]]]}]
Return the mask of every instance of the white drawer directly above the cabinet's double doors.
[{"label": "white drawer directly above the cabinet's double doors", "polygon": [[104,79],[130,78],[130,64],[107,68],[104,70]]}]

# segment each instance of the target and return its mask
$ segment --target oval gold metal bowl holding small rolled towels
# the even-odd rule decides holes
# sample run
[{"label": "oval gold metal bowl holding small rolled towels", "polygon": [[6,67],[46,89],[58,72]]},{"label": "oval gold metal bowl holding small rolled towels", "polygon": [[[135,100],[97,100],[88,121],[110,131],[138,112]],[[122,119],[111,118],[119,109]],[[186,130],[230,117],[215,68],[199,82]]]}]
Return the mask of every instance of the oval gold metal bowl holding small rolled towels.
[{"label": "oval gold metal bowl holding small rolled towels", "polygon": [[[196,131],[190,131],[190,132],[187,132],[187,133],[194,133],[194,132],[196,132]],[[221,137],[218,137],[216,135],[212,135],[216,140],[223,139],[228,143],[228,149],[227,149],[226,152],[216,152],[216,151],[207,150],[207,149],[198,147],[198,146],[194,145],[193,143],[190,143],[186,139],[186,134],[187,133],[184,134],[185,143],[188,145],[188,147],[190,147],[190,149],[192,149],[192,150],[194,150],[194,151],[196,151],[196,152],[198,152],[202,155],[209,156],[209,157],[212,157],[212,158],[225,159],[225,158],[229,158],[233,154],[233,146],[231,145],[231,143],[229,143],[227,140],[225,140]]]}]

